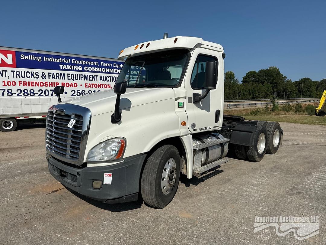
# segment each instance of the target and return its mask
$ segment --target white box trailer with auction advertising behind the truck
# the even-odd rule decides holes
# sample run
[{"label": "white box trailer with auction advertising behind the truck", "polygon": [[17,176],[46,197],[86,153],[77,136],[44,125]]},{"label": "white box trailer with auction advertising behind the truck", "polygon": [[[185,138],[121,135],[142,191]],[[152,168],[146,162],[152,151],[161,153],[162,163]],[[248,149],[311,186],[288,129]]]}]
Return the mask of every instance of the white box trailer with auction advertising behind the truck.
[{"label": "white box trailer with auction advertising behind the truck", "polygon": [[65,86],[63,101],[113,89],[123,63],[104,57],[0,47],[0,130],[13,131],[22,120],[45,122],[49,107],[58,102],[55,86]]}]

